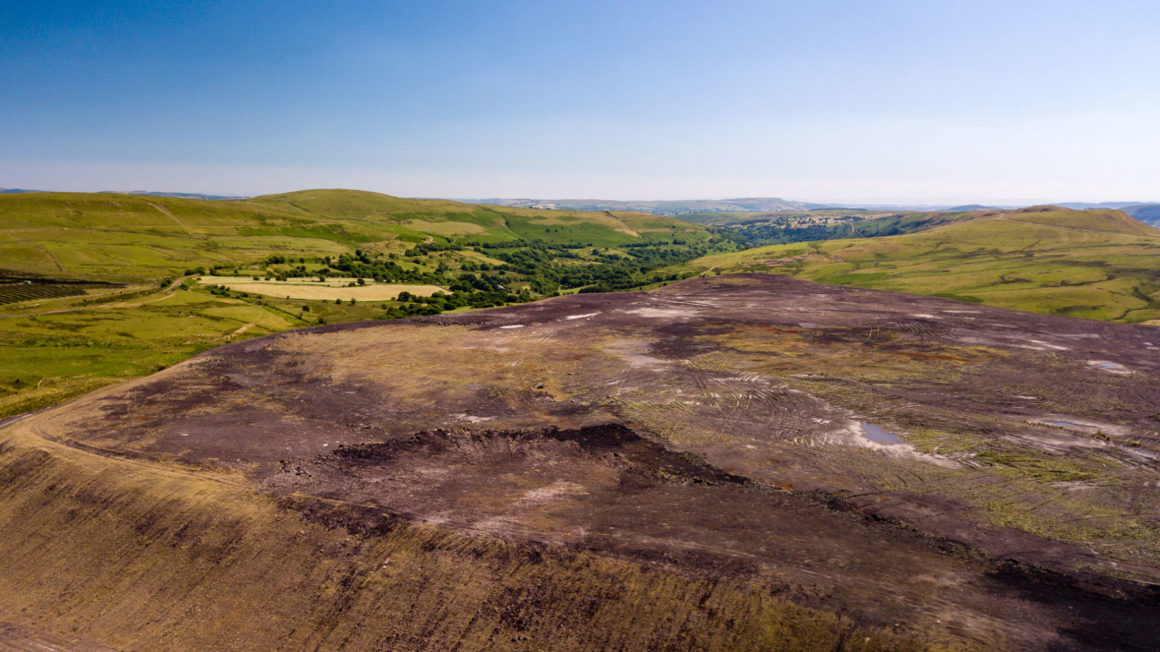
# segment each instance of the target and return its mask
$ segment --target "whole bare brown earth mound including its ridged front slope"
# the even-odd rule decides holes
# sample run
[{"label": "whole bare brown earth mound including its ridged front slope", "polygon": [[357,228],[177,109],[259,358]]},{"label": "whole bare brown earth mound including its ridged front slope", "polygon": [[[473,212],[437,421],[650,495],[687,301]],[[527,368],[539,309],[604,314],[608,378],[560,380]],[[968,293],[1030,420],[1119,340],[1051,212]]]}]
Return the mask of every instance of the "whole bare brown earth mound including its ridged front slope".
[{"label": "whole bare brown earth mound including its ridged front slope", "polygon": [[278,333],[0,426],[0,609],[113,647],[1153,649],[1157,378],[1148,326],[774,275]]}]

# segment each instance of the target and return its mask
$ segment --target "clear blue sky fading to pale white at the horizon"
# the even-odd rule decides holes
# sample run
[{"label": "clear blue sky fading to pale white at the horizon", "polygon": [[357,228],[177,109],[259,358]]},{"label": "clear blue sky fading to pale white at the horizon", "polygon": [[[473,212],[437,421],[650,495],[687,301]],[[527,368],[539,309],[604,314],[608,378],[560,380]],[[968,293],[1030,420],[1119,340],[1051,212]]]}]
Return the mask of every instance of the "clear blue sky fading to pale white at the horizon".
[{"label": "clear blue sky fading to pale white at the horizon", "polygon": [[1160,200],[1160,2],[6,2],[0,187]]}]

